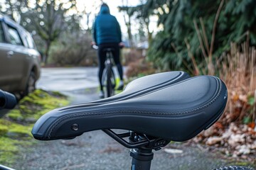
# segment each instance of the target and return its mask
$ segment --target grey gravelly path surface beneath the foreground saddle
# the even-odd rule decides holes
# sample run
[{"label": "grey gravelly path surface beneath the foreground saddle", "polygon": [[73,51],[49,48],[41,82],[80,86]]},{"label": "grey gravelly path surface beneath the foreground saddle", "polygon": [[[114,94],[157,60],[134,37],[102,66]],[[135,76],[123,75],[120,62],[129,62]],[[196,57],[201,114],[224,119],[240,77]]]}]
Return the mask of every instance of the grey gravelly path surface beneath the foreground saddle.
[{"label": "grey gravelly path surface beneath the foreground saddle", "polygon": [[[169,148],[171,145],[168,145]],[[174,144],[182,154],[154,151],[151,169],[214,169],[228,162],[218,159],[215,153]],[[98,130],[87,132],[73,140],[39,141],[32,148],[23,148],[14,169],[129,169],[132,158],[129,149],[122,147],[112,138]]]}]

